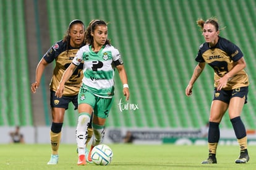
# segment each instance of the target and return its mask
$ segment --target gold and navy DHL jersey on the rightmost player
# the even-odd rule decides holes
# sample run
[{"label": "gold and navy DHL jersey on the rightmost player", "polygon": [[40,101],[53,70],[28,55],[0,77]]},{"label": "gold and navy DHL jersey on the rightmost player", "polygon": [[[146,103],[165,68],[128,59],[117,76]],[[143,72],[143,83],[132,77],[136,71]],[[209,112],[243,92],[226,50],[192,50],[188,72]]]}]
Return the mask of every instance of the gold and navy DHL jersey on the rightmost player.
[{"label": "gold and navy DHL jersey on the rightmost player", "polygon": [[[210,48],[208,43],[203,43],[196,57],[197,62],[207,62],[215,71],[214,80],[218,80],[227,74],[233,67],[234,62],[243,57],[241,49],[230,41],[219,37],[218,43]],[[215,82],[214,87],[218,83]],[[223,90],[232,90],[238,87],[249,86],[249,78],[245,70],[241,70],[229,79],[228,84]]]}]

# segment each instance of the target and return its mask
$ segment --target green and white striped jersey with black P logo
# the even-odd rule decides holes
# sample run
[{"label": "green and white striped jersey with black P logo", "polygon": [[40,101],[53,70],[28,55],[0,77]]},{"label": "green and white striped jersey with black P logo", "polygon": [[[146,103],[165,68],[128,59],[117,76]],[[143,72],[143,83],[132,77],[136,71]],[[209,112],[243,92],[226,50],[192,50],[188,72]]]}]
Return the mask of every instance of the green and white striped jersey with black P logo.
[{"label": "green and white striped jersey with black P logo", "polygon": [[82,87],[96,96],[113,98],[114,96],[114,68],[122,64],[121,55],[114,46],[106,45],[95,53],[92,46],[85,45],[79,49],[73,59],[73,64],[83,63]]}]

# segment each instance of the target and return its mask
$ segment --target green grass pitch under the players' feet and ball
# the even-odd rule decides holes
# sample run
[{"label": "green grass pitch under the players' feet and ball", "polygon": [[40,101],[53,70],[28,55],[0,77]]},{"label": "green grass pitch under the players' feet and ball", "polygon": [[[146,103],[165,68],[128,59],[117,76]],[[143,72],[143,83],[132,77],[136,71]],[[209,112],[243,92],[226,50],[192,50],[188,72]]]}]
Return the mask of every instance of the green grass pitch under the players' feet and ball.
[{"label": "green grass pitch under the players' feet and ball", "polygon": [[256,146],[249,146],[250,161],[236,164],[238,146],[218,146],[218,164],[200,164],[207,158],[206,145],[130,145],[112,144],[114,156],[108,166],[77,166],[76,145],[61,144],[59,164],[47,165],[50,145],[0,145],[0,169],[256,169]]}]

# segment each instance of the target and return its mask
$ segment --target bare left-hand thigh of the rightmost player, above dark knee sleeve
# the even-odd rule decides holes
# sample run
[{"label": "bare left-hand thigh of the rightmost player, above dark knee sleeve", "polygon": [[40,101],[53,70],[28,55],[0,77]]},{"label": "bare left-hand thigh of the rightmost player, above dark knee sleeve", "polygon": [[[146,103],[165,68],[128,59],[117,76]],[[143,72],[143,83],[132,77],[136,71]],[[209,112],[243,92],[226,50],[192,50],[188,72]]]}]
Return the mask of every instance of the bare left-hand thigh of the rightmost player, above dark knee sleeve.
[{"label": "bare left-hand thigh of the rightmost player, above dark knee sleeve", "polygon": [[210,122],[220,122],[224,113],[228,109],[228,104],[221,100],[213,100],[211,103]]}]

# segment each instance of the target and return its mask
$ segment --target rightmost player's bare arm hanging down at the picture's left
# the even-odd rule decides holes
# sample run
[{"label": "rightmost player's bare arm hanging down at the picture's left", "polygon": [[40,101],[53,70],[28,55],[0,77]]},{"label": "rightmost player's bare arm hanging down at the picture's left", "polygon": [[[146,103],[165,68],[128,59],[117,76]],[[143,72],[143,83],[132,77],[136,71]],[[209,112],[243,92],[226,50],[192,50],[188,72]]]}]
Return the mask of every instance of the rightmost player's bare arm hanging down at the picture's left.
[{"label": "rightmost player's bare arm hanging down at the picture's left", "polygon": [[192,88],[197,80],[197,78],[200,76],[200,74],[203,72],[203,69],[205,68],[205,62],[199,62],[197,66],[195,66],[194,72],[192,74],[191,79],[189,80],[189,85],[187,85],[186,88],[186,95],[190,96],[192,95]]}]

